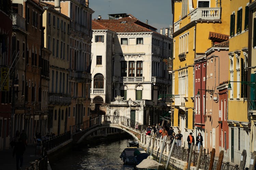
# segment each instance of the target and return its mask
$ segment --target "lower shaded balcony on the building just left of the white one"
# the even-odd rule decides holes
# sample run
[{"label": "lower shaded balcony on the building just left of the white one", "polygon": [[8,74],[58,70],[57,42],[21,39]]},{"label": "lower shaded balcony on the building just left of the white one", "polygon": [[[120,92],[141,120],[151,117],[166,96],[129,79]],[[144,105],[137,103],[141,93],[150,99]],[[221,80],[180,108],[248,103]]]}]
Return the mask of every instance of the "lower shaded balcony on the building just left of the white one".
[{"label": "lower shaded balcony on the building just left of the white one", "polygon": [[85,71],[69,71],[69,79],[79,83],[91,82],[91,74]]}]

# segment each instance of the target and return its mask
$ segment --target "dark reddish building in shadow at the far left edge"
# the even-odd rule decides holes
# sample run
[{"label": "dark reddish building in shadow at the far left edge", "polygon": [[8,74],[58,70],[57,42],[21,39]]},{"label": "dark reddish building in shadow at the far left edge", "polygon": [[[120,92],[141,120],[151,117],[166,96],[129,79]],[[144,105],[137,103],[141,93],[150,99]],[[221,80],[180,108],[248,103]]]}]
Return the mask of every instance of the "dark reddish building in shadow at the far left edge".
[{"label": "dark reddish building in shadow at the far left edge", "polygon": [[0,0],[0,150],[8,149],[11,125],[11,83],[9,68],[11,66],[12,20],[11,1]]}]

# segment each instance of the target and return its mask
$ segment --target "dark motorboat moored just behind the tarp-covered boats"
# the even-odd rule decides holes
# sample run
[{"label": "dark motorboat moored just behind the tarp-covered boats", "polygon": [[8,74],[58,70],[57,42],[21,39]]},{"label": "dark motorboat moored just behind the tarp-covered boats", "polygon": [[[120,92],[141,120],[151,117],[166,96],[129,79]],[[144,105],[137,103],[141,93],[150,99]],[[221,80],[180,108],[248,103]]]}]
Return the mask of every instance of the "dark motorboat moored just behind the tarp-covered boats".
[{"label": "dark motorboat moored just behind the tarp-covered boats", "polygon": [[120,158],[123,160],[124,164],[135,164],[134,156],[140,155],[141,153],[146,152],[142,148],[129,147],[124,149],[120,155]]}]

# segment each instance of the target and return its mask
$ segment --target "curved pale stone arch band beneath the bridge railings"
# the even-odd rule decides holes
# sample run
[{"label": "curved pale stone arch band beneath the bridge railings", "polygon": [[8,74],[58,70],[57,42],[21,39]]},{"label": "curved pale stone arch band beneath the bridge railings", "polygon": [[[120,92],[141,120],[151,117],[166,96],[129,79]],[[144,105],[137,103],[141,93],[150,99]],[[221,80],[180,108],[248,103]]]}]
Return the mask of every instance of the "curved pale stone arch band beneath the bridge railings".
[{"label": "curved pale stone arch band beneath the bridge railings", "polygon": [[[98,131],[100,129],[104,129],[104,128],[116,128],[116,129],[120,129],[120,130],[123,130],[125,131],[126,133],[128,133],[129,135],[131,135],[134,139],[136,139],[138,142],[140,142],[140,139],[134,134],[132,133],[133,131],[132,130],[129,130],[127,127],[123,127],[123,126],[120,126],[120,125],[102,125],[102,126],[97,126],[93,129],[90,129],[89,131],[87,131],[78,141],[77,141],[77,144],[81,143],[87,136],[89,136],[90,134],[94,133],[95,131]],[[137,132],[138,134],[138,132]]]}]

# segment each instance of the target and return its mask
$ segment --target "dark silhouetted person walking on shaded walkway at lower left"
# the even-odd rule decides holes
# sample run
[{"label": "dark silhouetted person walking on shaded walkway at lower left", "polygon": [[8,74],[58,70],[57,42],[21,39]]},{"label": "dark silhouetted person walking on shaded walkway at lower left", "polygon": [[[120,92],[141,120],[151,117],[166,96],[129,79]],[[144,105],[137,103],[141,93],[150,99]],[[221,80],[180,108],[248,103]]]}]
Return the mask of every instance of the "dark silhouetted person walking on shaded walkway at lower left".
[{"label": "dark silhouetted person walking on shaded walkway at lower left", "polygon": [[[25,143],[19,138],[19,141],[16,143],[13,149],[13,157],[16,154],[16,169],[19,170],[23,165],[23,154],[25,152],[26,146]],[[19,166],[20,162],[20,166]]]}]

